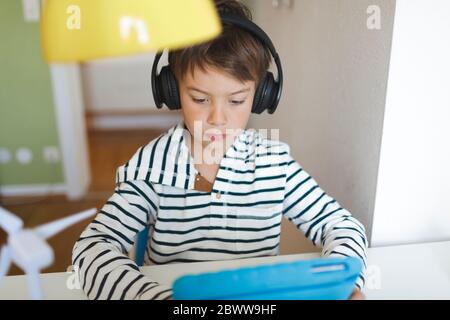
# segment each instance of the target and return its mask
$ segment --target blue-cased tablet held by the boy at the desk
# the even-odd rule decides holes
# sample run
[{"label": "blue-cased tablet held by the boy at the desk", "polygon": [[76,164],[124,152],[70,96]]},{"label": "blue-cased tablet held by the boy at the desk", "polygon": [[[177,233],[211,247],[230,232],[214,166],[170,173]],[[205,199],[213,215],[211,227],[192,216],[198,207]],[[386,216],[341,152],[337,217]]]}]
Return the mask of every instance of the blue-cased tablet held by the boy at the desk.
[{"label": "blue-cased tablet held by the boy at the desk", "polygon": [[298,260],[189,274],[173,283],[175,300],[344,300],[362,263],[353,257]]}]

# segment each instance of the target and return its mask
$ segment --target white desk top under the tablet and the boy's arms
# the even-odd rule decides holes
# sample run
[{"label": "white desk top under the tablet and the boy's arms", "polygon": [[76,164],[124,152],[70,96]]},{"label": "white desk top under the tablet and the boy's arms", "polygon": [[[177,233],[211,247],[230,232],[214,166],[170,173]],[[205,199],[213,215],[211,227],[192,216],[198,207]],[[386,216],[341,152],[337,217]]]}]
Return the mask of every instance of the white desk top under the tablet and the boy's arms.
[{"label": "white desk top under the tablet and the boy's arms", "polygon": [[[187,273],[215,271],[272,262],[318,257],[316,253],[227,261],[180,263],[142,268],[142,272],[171,285]],[[371,248],[369,279],[364,290],[368,299],[450,299],[450,241]],[[79,289],[68,289],[69,273],[41,275],[47,299],[86,299]],[[0,299],[28,299],[25,276],[0,281]]]}]

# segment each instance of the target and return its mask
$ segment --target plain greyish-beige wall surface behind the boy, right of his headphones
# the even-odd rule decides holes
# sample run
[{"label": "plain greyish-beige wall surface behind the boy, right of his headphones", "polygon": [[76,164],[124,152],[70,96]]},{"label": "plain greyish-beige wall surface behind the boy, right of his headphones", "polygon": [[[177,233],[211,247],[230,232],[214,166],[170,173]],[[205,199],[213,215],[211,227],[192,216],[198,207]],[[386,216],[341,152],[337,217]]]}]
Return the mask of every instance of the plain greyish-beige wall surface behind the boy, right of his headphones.
[{"label": "plain greyish-beige wall surface behind the boy, right of his headphones", "polygon": [[[280,128],[294,158],[370,236],[395,1],[295,0],[290,10],[250,3],[285,73],[276,113],[254,115],[250,126]],[[380,30],[367,28],[370,5],[380,8]]]}]

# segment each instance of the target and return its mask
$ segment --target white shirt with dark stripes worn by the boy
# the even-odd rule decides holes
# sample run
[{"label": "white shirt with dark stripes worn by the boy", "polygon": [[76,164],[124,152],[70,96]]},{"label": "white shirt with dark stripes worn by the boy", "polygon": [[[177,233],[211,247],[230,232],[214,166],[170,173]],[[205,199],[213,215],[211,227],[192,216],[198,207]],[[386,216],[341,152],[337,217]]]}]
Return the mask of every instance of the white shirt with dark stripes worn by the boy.
[{"label": "white shirt with dark stripes worn by the boy", "polygon": [[[281,219],[294,223],[324,256],[366,265],[364,226],[328,196],[289,154],[289,146],[244,130],[222,158],[211,192],[198,173],[183,121],[117,170],[114,194],[73,249],[90,299],[167,299],[171,287],[140,273],[128,253],[150,226],[148,264],[277,255]],[[364,273],[357,286],[364,284]]]}]

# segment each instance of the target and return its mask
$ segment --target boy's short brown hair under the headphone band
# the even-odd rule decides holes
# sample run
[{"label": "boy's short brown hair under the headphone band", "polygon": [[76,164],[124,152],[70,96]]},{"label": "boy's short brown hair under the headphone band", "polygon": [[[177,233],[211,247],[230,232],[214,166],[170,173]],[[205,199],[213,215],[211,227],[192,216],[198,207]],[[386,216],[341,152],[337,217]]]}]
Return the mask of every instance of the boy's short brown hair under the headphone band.
[{"label": "boy's short brown hair under the headphone band", "polygon": [[[237,0],[215,0],[219,13],[252,20],[250,10]],[[169,52],[170,68],[178,81],[194,69],[206,67],[223,70],[241,82],[255,81],[256,86],[270,66],[271,54],[261,41],[239,27],[223,24],[222,34],[209,42]]]}]

